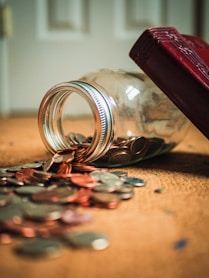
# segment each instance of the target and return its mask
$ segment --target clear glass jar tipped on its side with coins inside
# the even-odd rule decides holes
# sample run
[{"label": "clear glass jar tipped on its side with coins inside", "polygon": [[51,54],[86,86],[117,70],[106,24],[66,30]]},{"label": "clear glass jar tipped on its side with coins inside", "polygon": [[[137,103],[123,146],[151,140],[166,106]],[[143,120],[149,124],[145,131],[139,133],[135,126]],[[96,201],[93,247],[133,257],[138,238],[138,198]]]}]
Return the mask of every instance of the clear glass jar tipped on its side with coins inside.
[{"label": "clear glass jar tipped on its side with coins inside", "polygon": [[[75,105],[75,95],[90,108],[89,135],[73,132],[70,122],[69,130],[64,128],[64,111],[71,110],[67,101]],[[40,104],[38,123],[51,153],[73,149],[74,161],[100,167],[127,166],[166,153],[188,126],[186,117],[146,74],[110,69],[52,87]]]}]

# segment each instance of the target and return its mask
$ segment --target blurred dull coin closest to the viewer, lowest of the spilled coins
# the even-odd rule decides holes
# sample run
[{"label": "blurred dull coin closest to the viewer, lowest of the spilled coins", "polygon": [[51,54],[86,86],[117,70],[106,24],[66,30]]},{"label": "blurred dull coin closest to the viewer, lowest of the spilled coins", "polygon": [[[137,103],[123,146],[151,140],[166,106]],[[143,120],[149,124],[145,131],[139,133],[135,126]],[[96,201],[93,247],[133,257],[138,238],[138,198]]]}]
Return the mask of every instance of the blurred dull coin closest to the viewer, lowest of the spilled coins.
[{"label": "blurred dull coin closest to the viewer, lowest of the spilled coins", "polygon": [[58,239],[36,238],[17,247],[16,252],[31,257],[58,257],[61,254],[62,244]]}]

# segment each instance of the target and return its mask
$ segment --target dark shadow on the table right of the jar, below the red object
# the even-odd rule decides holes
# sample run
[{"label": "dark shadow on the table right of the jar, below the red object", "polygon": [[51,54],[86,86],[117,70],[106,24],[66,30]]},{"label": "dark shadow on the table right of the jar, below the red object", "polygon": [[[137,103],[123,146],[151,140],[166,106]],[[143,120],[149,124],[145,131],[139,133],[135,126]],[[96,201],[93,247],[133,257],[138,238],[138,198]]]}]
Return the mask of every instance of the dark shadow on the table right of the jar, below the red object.
[{"label": "dark shadow on the table right of the jar, below the red object", "polygon": [[141,161],[135,166],[209,177],[209,155],[198,153],[171,152]]}]

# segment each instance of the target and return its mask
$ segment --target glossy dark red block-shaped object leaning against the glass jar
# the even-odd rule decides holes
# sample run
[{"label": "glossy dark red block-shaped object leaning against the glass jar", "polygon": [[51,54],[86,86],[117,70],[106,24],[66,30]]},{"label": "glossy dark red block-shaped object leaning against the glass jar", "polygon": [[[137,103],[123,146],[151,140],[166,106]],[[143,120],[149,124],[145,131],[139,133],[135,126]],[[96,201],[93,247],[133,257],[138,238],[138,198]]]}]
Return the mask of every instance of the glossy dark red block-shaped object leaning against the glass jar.
[{"label": "glossy dark red block-shaped object leaning against the glass jar", "polygon": [[174,27],[152,27],[129,55],[209,139],[209,44]]}]

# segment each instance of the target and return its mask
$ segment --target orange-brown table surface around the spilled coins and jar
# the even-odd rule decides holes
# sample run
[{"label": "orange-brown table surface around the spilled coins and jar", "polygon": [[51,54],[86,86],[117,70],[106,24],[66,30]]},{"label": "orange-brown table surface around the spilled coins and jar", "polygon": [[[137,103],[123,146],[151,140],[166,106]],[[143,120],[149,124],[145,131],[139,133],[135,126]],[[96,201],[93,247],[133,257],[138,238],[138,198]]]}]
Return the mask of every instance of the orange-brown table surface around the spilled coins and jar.
[{"label": "orange-brown table surface around the spilled coins and jar", "polygon": [[[85,129],[82,121],[79,128]],[[0,119],[0,167],[48,157],[36,117]],[[93,221],[76,227],[106,234],[108,248],[66,246],[57,258],[31,259],[15,254],[26,240],[15,238],[0,245],[0,277],[209,277],[208,139],[191,125],[171,153],[120,170],[147,185],[135,188],[134,197],[116,209],[83,208]],[[155,193],[159,188],[164,190]]]}]

